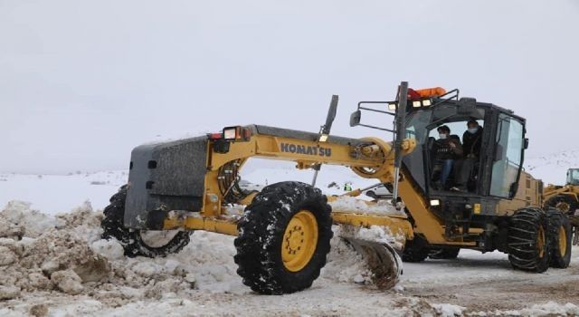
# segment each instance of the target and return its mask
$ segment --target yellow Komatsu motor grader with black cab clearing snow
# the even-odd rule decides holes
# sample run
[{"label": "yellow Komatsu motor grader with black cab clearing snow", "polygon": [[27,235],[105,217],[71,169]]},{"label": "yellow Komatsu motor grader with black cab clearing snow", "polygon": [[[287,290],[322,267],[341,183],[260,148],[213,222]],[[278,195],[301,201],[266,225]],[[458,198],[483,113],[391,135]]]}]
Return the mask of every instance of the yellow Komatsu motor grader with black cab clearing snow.
[{"label": "yellow Komatsu motor grader with black cab clearing snow", "polygon": [[[432,250],[446,256],[461,248],[499,250],[508,254],[513,267],[536,273],[569,265],[568,219],[541,207],[540,181],[522,171],[528,143],[523,118],[490,103],[459,98],[458,90],[412,90],[402,82],[396,96],[395,101],[359,102],[350,120],[351,126],[393,133],[391,142],[330,135],[337,110],[334,96],[318,133],[232,126],[133,149],[128,185],[104,210],[103,237],[118,239],[128,256],[152,257],[180,251],[194,230],[234,235],[237,273],[253,291],[265,294],[298,292],[318,278],[333,225],[347,229],[339,232],[365,255],[376,283],[384,287],[394,285],[401,273],[399,255],[419,262]],[[381,121],[388,124],[362,122],[363,113],[371,119],[384,116]],[[436,175],[441,162],[432,151],[436,129],[466,129],[469,120],[484,127],[479,157],[457,156],[452,168],[455,175],[468,175],[468,187],[450,190],[452,176],[440,187]],[[327,197],[296,181],[246,190],[240,186],[240,171],[252,158],[293,161],[316,176],[325,164],[349,168],[390,188],[392,207],[400,212],[332,210],[332,201],[341,197]],[[244,206],[241,216],[230,212],[233,206]],[[370,226],[402,237],[403,247],[356,235],[356,228]]]}]

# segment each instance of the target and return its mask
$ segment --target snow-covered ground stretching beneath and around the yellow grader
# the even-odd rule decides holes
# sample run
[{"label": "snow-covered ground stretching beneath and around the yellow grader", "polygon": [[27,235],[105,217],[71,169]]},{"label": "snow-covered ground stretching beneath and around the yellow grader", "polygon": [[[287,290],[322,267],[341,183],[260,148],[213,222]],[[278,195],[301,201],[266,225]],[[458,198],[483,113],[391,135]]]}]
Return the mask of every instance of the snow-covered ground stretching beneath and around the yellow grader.
[{"label": "snow-covered ground stretching beneath and around the yellow grader", "polygon": [[[309,182],[312,173],[250,166],[243,176],[271,184]],[[115,241],[100,240],[99,226],[100,209],[126,178],[126,171],[0,174],[0,316],[579,315],[579,249],[570,268],[546,274],[514,271],[507,255],[463,250],[457,260],[404,264],[401,283],[379,291],[356,253],[335,238],[312,288],[284,296],[242,284],[230,236],[195,232],[178,255],[129,259]],[[339,193],[327,185],[348,181],[374,183],[324,167],[318,186]]]}]

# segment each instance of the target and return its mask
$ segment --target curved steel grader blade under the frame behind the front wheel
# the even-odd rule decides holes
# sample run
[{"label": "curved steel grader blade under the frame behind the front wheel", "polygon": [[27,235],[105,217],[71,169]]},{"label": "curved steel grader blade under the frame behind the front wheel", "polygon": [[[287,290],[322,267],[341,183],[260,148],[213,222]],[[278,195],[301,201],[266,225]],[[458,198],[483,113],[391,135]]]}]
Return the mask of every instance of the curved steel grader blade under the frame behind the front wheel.
[{"label": "curved steel grader blade under the frame behind the front wheel", "polygon": [[359,255],[362,255],[368,269],[372,272],[372,282],[381,290],[393,288],[403,273],[400,255],[392,245],[368,241],[353,237],[341,237],[346,245],[350,245]]}]

